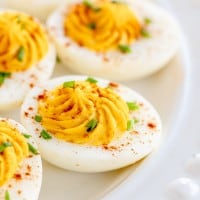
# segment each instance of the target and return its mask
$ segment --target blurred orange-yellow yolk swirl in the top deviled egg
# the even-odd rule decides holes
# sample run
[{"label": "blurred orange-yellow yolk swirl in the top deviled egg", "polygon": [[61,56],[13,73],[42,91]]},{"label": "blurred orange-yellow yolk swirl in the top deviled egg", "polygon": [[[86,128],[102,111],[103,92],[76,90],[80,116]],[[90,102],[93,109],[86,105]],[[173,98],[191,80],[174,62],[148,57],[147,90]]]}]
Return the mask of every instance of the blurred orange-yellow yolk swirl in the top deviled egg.
[{"label": "blurred orange-yellow yolk swirl in the top deviled egg", "polygon": [[104,52],[132,43],[141,26],[128,5],[104,0],[74,5],[65,17],[64,30],[79,45]]}]

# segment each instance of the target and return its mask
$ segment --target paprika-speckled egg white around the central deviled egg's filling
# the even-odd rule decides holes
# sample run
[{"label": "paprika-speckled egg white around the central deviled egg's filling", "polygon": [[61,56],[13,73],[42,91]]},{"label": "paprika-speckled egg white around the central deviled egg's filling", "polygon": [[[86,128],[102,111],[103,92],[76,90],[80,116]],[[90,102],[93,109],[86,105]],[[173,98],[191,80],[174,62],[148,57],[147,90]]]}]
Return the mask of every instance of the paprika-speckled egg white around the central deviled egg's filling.
[{"label": "paprika-speckled egg white around the central deviled egg's filling", "polygon": [[[45,140],[40,137],[44,129],[34,120],[38,109],[38,95],[44,90],[52,90],[65,81],[86,80],[86,76],[64,76],[46,82],[43,87],[35,87],[27,95],[21,108],[21,122],[35,137],[42,158],[48,162],[68,170],[78,172],[103,172],[118,169],[147,156],[157,146],[161,136],[161,121],[154,108],[139,94],[133,90],[119,86],[116,92],[125,101],[137,101],[143,106],[134,112],[134,117],[139,122],[132,131],[126,131],[123,137],[111,142],[107,146],[89,146],[65,142],[56,139]],[[106,87],[109,81],[97,79],[98,85]],[[30,109],[31,108],[31,109]],[[152,121],[155,129],[147,127]]]}]

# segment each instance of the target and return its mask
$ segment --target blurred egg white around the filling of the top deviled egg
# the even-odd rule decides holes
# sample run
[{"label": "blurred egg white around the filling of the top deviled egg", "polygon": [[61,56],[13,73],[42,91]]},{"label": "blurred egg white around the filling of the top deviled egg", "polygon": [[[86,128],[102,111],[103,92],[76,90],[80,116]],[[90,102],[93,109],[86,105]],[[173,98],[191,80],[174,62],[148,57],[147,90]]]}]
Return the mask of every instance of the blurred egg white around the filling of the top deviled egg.
[{"label": "blurred egg white around the filling of the top deviled egg", "polygon": [[153,3],[139,0],[126,2],[141,22],[146,17],[152,21],[147,26],[151,37],[142,37],[133,42],[130,45],[132,52],[126,54],[119,50],[97,53],[80,47],[65,36],[63,23],[72,4],[70,1],[50,15],[47,26],[66,67],[74,72],[110,80],[133,80],[148,76],[167,64],[178,51],[180,43],[180,31],[175,19]]}]

